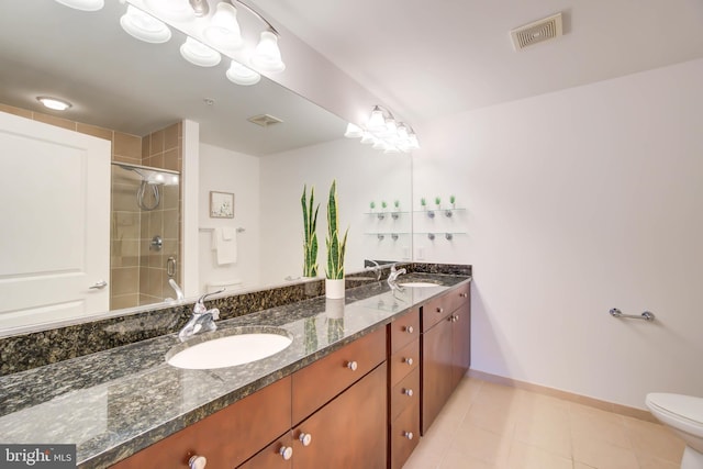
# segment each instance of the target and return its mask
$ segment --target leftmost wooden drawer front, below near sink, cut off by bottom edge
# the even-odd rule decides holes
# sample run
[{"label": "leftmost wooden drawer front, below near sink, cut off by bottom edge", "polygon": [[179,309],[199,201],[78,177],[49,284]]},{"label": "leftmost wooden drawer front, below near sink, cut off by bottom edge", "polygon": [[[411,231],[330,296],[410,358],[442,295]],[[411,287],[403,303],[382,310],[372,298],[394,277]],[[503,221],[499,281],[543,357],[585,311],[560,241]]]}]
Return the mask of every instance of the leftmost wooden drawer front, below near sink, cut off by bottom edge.
[{"label": "leftmost wooden drawer front, below near sink, cut off by bottom edge", "polygon": [[[266,424],[253,424],[256,422]],[[208,467],[232,468],[290,427],[290,378],[287,377],[132,455],[113,468],[188,467],[193,455],[204,456]]]}]

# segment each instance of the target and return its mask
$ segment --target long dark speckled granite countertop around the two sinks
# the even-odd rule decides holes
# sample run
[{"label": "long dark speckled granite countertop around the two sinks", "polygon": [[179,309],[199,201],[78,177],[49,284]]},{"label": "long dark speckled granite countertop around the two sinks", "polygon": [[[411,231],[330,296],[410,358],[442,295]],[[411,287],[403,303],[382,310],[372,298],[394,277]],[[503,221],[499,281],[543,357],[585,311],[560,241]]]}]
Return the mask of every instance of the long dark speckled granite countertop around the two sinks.
[{"label": "long dark speckled granite countertop around the two sinks", "polygon": [[165,356],[180,342],[169,334],[1,377],[0,439],[76,444],[79,467],[109,467],[470,277],[412,273],[402,280],[438,284],[391,291],[378,282],[347,290],[343,301],[315,298],[217,322],[217,333],[276,326],[293,338],[284,350],[246,365],[175,368]]}]

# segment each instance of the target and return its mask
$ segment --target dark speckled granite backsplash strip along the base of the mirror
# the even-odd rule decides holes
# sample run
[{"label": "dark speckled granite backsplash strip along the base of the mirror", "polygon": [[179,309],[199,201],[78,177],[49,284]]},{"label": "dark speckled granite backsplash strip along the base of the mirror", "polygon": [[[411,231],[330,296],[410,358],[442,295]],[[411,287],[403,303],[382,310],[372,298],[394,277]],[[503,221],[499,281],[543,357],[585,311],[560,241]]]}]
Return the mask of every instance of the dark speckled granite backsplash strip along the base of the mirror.
[{"label": "dark speckled granite backsplash strip along the base of the mirror", "polygon": [[[471,266],[466,265],[401,264],[400,267],[409,272],[471,275]],[[388,278],[388,267],[381,269],[381,278]],[[371,271],[353,273],[347,277],[346,288],[373,281],[376,278]],[[324,280],[319,279],[220,298],[205,304],[208,308],[219,308],[221,319],[227,320],[322,294]],[[125,316],[0,337],[0,376],[178,332],[188,322],[192,306],[192,302],[187,302]]]}]

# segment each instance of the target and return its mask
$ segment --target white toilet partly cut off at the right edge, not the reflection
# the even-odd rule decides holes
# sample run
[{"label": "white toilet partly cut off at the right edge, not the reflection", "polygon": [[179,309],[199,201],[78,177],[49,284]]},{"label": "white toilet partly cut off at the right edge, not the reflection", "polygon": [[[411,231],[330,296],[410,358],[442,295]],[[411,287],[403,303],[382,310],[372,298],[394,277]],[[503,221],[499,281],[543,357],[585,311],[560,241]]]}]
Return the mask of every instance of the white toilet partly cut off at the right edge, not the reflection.
[{"label": "white toilet partly cut off at the right edge, not the reflection", "polygon": [[652,392],[645,403],[657,420],[685,442],[681,469],[703,469],[703,398]]}]

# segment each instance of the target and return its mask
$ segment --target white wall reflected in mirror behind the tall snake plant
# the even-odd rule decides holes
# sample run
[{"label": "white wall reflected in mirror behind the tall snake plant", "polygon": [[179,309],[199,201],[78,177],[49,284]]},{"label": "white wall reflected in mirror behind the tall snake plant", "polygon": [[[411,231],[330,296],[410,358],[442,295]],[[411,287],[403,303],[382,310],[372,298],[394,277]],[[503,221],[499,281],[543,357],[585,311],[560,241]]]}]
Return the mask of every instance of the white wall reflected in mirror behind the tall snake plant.
[{"label": "white wall reflected in mirror behind the tall snake plant", "polygon": [[[315,188],[317,215],[319,277],[325,276],[325,235],[330,186],[337,180],[339,227],[349,227],[346,271],[359,271],[364,258],[402,260],[411,256],[411,220],[405,213],[393,221],[369,214],[369,203],[401,210],[411,204],[411,160],[409,155],[387,155],[357,138],[338,139],[261,158],[261,282],[280,284],[303,270],[303,220],[300,198],[303,186]],[[390,209],[389,209],[390,210]],[[269,216],[276,214],[276,216]],[[286,228],[281,228],[284,226]],[[372,233],[398,232],[397,241],[379,241]]]}]

